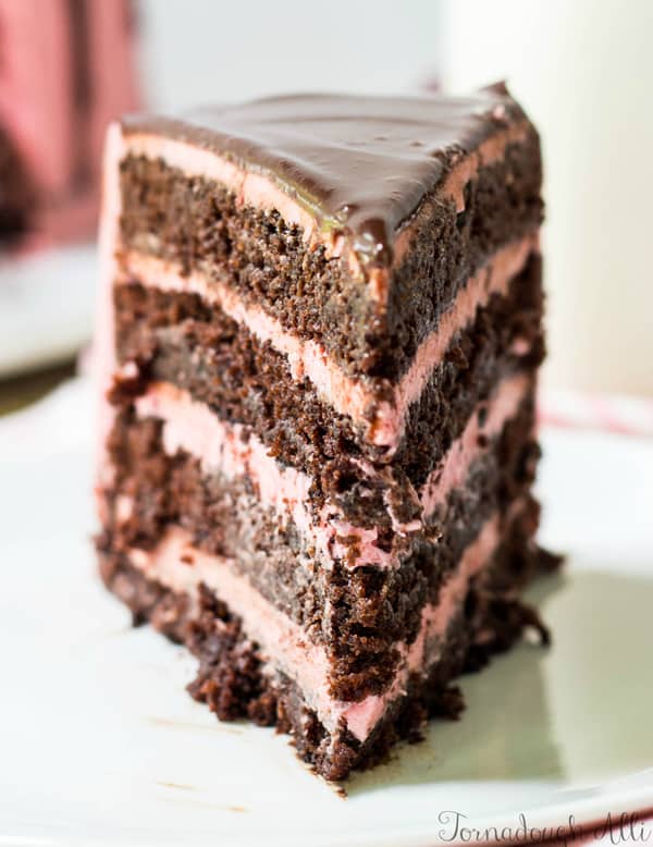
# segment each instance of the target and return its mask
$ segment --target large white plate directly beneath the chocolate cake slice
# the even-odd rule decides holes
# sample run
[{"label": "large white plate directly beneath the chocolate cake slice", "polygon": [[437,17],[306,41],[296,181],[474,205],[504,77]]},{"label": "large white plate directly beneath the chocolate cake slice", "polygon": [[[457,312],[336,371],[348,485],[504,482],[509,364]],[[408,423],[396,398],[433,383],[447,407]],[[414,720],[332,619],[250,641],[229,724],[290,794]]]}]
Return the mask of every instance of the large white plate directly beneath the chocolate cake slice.
[{"label": "large white plate directly beneath the chocolate cake slice", "polygon": [[651,805],[653,444],[545,433],[544,536],[569,553],[534,592],[554,646],[465,678],[459,723],[343,798],[284,737],[195,703],[193,661],[100,586],[89,407],[77,382],[0,421],[0,844],[401,847],[452,840],[447,812],[541,827]]}]

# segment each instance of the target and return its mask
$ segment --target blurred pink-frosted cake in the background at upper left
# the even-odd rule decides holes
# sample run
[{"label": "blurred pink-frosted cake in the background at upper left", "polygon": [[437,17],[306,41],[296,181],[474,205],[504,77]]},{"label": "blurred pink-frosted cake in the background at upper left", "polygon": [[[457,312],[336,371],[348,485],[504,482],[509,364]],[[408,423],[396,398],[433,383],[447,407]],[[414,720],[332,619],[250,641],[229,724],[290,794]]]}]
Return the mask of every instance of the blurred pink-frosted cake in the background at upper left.
[{"label": "blurred pink-frosted cake in the background at upper left", "polygon": [[91,237],[107,123],[137,105],[130,0],[0,0],[0,246]]}]

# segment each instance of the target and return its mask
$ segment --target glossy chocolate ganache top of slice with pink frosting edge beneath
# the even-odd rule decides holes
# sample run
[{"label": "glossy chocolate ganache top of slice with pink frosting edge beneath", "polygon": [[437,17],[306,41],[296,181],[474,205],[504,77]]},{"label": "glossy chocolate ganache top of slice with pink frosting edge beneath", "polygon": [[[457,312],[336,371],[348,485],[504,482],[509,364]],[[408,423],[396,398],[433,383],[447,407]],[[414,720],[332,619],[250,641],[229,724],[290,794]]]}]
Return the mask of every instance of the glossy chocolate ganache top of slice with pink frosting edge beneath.
[{"label": "glossy chocolate ganache top of slice with pink frosting edge beneath", "polygon": [[[248,175],[245,201],[284,207],[288,223],[361,268],[392,265],[397,234],[439,185],[464,208],[457,195],[473,168],[459,165],[471,154],[481,152],[478,168],[528,132],[503,84],[466,97],[301,94],[122,120],[127,154],[160,156],[193,175],[207,156],[218,159],[223,167],[207,176],[243,195]],[[460,180],[447,180],[458,170]]]}]

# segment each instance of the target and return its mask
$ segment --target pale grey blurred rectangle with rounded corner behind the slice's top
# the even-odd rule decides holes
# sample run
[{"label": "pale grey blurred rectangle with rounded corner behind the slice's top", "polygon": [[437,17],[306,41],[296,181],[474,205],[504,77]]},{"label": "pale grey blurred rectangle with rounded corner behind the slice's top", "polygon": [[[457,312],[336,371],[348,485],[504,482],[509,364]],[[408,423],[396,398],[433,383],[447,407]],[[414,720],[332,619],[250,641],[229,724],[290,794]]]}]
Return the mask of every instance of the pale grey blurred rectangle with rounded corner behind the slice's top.
[{"label": "pale grey blurred rectangle with rounded corner behind the slice's top", "polygon": [[161,109],[293,90],[397,91],[442,54],[428,0],[141,0],[146,91]]}]

